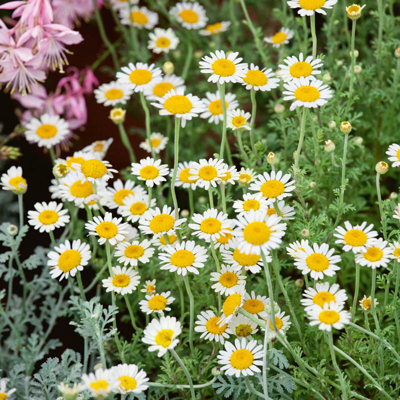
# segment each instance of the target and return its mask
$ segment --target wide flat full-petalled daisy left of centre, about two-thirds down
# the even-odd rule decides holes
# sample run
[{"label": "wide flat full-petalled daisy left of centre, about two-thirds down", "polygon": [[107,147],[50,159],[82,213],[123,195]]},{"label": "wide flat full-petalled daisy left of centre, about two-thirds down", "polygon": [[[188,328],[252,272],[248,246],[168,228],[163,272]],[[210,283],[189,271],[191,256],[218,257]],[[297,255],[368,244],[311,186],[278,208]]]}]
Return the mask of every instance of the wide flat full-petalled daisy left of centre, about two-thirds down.
[{"label": "wide flat full-petalled daisy left of centre, about two-thirds down", "polygon": [[197,268],[202,268],[207,260],[207,249],[196,245],[194,240],[182,241],[174,245],[167,244],[164,253],[158,254],[160,260],[160,269],[167,269],[169,272],[175,272],[178,275],[186,275],[187,272],[193,272],[198,275]]}]

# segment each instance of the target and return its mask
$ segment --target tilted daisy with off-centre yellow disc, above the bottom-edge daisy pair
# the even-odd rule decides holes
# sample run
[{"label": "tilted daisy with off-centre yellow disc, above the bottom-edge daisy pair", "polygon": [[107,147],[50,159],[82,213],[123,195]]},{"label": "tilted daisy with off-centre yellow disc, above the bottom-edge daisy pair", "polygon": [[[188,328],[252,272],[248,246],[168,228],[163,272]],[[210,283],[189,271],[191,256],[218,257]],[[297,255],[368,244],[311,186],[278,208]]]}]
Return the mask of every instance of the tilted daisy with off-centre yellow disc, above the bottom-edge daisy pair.
[{"label": "tilted daisy with off-centre yellow disc, above the bottom-edge daisy pair", "polygon": [[176,338],[182,331],[180,322],[174,316],[161,316],[154,318],[143,330],[141,341],[149,344],[148,351],[158,351],[157,356],[162,357],[168,348],[174,348],[179,340]]}]

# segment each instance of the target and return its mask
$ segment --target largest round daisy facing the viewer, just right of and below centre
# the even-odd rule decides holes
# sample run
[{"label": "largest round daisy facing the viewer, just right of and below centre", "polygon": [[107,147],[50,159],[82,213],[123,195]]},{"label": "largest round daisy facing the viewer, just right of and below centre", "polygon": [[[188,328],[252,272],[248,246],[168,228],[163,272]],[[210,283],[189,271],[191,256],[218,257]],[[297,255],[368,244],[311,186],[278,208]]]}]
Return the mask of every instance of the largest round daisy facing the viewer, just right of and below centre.
[{"label": "largest round daisy facing the viewer, just right of and below centre", "polygon": [[266,212],[250,210],[237,216],[238,227],[234,235],[239,241],[238,249],[246,254],[268,255],[269,250],[278,248],[284,236],[286,223],[280,223],[280,216],[268,215]]}]

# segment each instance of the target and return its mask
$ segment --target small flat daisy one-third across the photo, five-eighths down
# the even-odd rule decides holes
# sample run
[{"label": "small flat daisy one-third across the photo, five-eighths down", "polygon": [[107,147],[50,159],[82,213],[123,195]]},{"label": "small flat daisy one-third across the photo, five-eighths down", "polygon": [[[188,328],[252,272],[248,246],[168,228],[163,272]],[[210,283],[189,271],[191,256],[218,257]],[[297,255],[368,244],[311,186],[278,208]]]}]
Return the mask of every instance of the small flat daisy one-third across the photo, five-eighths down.
[{"label": "small flat daisy one-third across the photo, five-eighths down", "polygon": [[150,247],[151,241],[147,239],[121,241],[115,246],[115,257],[120,264],[136,266],[138,262],[146,264],[154,254]]}]

